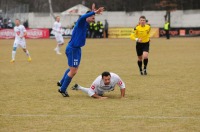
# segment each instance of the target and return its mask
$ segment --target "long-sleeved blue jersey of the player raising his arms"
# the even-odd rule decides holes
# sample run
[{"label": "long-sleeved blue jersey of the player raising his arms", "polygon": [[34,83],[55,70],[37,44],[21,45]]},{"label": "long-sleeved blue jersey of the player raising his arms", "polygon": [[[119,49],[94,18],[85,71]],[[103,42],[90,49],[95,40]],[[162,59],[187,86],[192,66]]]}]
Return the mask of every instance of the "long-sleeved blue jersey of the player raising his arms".
[{"label": "long-sleeved blue jersey of the player raising his arms", "polygon": [[94,12],[89,12],[87,14],[82,15],[78,19],[74,27],[74,30],[72,32],[71,40],[69,41],[69,44],[68,44],[70,47],[78,48],[85,45],[87,29],[89,27],[89,24],[87,23],[86,18],[94,14],[95,14]]}]

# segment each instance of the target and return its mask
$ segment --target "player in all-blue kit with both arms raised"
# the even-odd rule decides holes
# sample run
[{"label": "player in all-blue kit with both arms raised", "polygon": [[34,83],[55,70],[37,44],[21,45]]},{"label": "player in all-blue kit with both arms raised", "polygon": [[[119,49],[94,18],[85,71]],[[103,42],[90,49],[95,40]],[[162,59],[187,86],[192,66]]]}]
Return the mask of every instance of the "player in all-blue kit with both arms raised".
[{"label": "player in all-blue kit with both arms raised", "polygon": [[57,85],[60,86],[58,92],[61,93],[63,97],[69,97],[67,87],[78,71],[81,61],[81,47],[85,45],[89,23],[95,21],[95,14],[101,14],[103,11],[104,7],[100,7],[96,10],[93,4],[92,11],[88,11],[86,14],[82,15],[76,22],[71,40],[65,50],[69,68],[65,71],[63,78],[57,82]]}]

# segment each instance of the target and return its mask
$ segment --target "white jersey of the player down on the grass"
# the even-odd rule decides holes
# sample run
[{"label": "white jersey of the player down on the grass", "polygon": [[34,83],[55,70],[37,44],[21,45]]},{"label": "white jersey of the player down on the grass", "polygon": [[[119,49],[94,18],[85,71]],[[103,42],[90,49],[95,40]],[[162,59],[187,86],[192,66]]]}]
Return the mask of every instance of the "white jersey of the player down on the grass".
[{"label": "white jersey of the player down on the grass", "polygon": [[92,83],[88,91],[88,95],[92,96],[95,93],[98,95],[102,95],[104,92],[109,92],[109,91],[114,90],[116,84],[120,87],[120,89],[125,88],[125,83],[121,80],[121,78],[117,74],[110,73],[110,75],[111,75],[111,78],[110,78],[109,85],[105,85],[103,82],[102,76],[99,75]]}]

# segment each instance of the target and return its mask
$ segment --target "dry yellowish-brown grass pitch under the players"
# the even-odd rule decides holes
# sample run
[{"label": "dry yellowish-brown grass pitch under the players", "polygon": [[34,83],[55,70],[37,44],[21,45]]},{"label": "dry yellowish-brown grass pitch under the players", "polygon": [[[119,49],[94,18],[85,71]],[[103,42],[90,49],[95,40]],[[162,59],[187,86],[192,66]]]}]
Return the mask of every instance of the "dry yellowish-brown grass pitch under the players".
[{"label": "dry yellowish-brown grass pitch under the players", "polygon": [[[11,64],[13,41],[0,40],[1,132],[200,131],[200,38],[152,39],[147,76],[139,74],[134,41],[88,39],[70,98],[56,86],[68,67],[66,44],[56,55],[55,40],[29,39],[32,62],[19,48]],[[126,99],[118,86],[106,100],[70,89],[89,87],[103,71],[120,75]]]}]

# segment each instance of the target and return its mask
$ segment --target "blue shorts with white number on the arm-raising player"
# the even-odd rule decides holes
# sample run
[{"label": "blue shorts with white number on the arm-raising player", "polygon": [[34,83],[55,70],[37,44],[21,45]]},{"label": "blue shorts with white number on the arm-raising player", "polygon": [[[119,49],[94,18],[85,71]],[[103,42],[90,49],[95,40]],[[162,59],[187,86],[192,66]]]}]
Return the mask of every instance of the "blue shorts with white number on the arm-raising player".
[{"label": "blue shorts with white number on the arm-raising player", "polygon": [[81,48],[72,48],[67,46],[65,54],[68,58],[70,67],[78,67],[81,62]]}]

